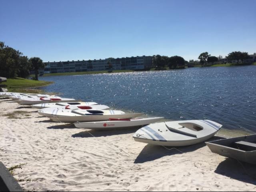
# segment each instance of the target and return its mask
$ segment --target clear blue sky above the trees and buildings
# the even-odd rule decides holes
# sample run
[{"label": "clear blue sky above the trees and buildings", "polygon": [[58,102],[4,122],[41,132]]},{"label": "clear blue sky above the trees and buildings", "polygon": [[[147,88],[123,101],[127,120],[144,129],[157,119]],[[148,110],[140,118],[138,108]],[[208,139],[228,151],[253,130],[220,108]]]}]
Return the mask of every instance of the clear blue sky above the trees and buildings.
[{"label": "clear blue sky above the trees and buildings", "polygon": [[0,41],[71,61],[256,52],[256,0],[0,0]]}]

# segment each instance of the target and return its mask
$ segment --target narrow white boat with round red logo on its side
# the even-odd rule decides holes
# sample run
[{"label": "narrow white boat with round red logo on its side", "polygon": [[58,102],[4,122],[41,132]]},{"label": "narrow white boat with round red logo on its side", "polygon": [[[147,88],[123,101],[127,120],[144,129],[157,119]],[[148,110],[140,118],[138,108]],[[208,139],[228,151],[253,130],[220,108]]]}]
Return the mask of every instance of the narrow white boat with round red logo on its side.
[{"label": "narrow white boat with round red logo on its side", "polygon": [[82,129],[95,129],[95,130],[107,130],[107,129],[123,129],[123,128],[136,128],[151,123],[156,123],[164,117],[149,117],[143,119],[109,119],[108,121],[96,121],[96,122],[85,122],[75,123],[77,128]]}]

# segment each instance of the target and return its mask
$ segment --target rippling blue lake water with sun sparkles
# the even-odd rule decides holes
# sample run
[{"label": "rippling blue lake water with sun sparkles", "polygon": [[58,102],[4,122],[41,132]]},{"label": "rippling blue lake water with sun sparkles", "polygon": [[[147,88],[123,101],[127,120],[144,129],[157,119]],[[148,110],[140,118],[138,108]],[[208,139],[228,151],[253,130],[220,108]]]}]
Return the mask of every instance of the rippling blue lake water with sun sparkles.
[{"label": "rippling blue lake water with sun sparkles", "polygon": [[47,92],[171,120],[256,133],[256,66],[40,77]]}]

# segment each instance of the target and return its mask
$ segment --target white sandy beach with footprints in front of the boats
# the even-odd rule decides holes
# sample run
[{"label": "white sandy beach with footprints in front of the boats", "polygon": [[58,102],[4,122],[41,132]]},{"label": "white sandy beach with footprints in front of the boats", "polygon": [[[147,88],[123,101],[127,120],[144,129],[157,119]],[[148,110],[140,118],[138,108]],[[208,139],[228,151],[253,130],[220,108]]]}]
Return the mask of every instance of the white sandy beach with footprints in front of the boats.
[{"label": "white sandy beach with footprints in front of the boats", "polygon": [[[20,109],[17,109],[19,108]],[[51,123],[35,109],[0,100],[0,161],[26,191],[255,191],[256,166],[210,152],[205,144],[167,150],[135,142],[136,130],[89,131]]]}]

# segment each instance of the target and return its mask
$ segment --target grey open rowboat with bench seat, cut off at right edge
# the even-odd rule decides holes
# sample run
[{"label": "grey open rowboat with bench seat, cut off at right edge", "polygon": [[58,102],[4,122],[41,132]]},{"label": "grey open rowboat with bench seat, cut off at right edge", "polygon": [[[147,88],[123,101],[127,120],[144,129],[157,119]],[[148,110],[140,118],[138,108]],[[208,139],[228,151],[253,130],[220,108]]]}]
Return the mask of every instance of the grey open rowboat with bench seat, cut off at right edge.
[{"label": "grey open rowboat with bench seat, cut off at right edge", "polygon": [[256,135],[206,142],[216,154],[256,164]]}]

